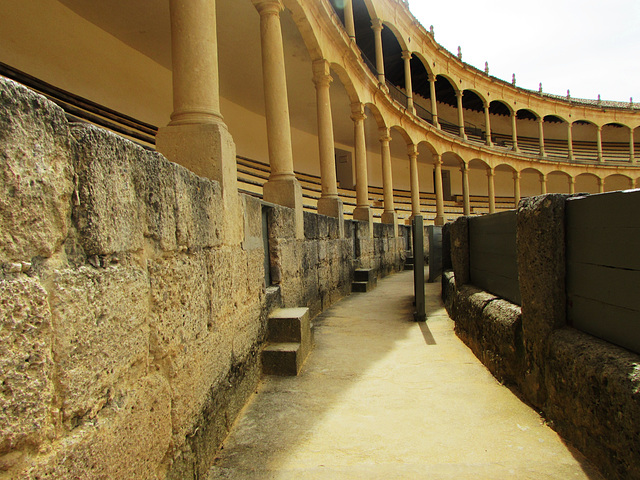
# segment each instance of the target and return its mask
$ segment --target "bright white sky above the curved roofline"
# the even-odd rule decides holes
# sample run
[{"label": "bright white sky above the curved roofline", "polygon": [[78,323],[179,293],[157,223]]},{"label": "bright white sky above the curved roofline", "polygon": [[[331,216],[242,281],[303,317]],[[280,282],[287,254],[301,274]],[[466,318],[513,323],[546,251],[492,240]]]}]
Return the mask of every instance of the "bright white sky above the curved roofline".
[{"label": "bright white sky above the curved roofline", "polygon": [[640,0],[409,0],[435,40],[523,88],[640,103]]}]

